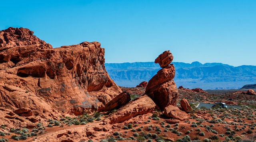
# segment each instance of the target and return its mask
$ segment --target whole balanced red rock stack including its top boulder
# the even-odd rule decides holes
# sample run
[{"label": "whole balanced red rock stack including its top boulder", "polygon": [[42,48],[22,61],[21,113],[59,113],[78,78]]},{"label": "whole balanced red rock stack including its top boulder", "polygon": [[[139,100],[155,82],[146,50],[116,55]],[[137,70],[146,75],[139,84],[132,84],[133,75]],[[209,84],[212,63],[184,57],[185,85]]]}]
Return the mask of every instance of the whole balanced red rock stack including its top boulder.
[{"label": "whole balanced red rock stack including its top boulder", "polygon": [[170,51],[165,51],[156,58],[155,62],[164,68],[149,80],[145,91],[145,94],[154,100],[161,110],[169,105],[176,106],[178,97],[177,87],[173,81],[175,68],[173,64],[170,64],[172,59]]}]

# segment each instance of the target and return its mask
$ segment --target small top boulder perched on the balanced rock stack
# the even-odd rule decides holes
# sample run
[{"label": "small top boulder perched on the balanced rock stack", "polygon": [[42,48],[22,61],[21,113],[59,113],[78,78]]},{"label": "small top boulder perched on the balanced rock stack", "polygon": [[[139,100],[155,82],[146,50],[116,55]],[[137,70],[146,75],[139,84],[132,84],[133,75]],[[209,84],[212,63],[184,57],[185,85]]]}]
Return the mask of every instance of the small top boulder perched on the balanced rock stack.
[{"label": "small top boulder perched on the balanced rock stack", "polygon": [[172,53],[170,52],[170,50],[168,50],[168,51],[164,51],[162,54],[160,54],[156,58],[155,63],[159,64],[161,68],[165,68],[172,62],[172,60],[173,60]]}]

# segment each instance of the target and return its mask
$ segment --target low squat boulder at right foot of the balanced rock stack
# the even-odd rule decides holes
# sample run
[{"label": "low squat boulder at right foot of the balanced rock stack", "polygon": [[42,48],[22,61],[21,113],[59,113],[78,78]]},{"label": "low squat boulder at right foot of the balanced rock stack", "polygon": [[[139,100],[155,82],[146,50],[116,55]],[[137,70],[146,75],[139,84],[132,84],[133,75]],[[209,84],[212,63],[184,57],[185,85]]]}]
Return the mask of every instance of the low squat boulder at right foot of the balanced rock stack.
[{"label": "low squat boulder at right foot of the balanced rock stack", "polygon": [[178,107],[172,105],[164,108],[164,116],[178,120],[185,120],[188,118],[186,112],[183,112]]}]

